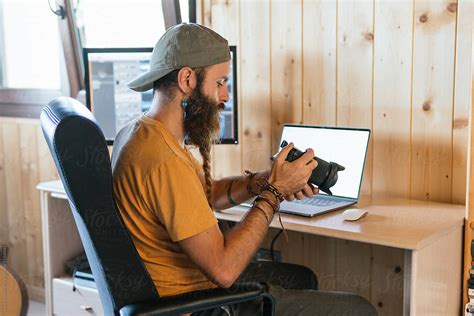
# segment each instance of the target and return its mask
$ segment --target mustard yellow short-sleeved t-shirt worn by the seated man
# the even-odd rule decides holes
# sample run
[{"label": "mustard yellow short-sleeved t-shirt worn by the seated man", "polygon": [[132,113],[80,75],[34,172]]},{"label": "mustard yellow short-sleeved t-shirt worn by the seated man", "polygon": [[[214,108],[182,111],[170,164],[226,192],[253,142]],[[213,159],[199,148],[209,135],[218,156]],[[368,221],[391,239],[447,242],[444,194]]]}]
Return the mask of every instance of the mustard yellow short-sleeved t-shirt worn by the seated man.
[{"label": "mustard yellow short-sleeved t-shirt worn by the seated man", "polygon": [[114,142],[117,207],[161,296],[216,287],[176,243],[217,224],[200,168],[163,124],[145,115]]}]

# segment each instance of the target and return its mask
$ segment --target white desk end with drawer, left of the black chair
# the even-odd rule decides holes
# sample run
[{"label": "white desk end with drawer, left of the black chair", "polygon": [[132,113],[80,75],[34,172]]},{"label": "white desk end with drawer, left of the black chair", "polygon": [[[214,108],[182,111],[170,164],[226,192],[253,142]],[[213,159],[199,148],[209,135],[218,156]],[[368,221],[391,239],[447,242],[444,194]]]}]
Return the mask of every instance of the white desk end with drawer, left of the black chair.
[{"label": "white desk end with drawer, left of the black chair", "polygon": [[[41,193],[46,315],[103,315],[96,289],[76,286],[66,262],[84,251],[60,181],[38,185]],[[0,312],[1,314],[1,312]]]}]

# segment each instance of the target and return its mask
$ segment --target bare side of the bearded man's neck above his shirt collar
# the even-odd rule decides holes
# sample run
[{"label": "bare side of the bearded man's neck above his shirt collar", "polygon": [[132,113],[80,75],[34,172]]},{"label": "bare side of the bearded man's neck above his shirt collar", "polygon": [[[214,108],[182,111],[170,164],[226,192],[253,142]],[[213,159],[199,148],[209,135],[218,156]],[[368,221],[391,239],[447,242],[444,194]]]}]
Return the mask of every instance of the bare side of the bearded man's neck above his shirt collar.
[{"label": "bare side of the bearded man's neck above his shirt collar", "polygon": [[183,108],[178,98],[166,100],[155,93],[152,106],[146,115],[162,123],[178,140],[178,143],[184,146]]}]

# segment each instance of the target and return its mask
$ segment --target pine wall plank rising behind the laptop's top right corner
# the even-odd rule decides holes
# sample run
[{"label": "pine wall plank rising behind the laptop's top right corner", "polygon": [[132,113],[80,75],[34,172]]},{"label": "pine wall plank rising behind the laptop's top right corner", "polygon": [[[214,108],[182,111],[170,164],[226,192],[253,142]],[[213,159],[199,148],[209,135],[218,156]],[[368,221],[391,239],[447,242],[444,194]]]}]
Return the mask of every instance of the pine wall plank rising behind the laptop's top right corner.
[{"label": "pine wall plank rising behind the laptop's top right corner", "polygon": [[[337,125],[372,128],[374,7],[371,1],[340,1],[337,16]],[[372,192],[372,139],[361,194]]]}]

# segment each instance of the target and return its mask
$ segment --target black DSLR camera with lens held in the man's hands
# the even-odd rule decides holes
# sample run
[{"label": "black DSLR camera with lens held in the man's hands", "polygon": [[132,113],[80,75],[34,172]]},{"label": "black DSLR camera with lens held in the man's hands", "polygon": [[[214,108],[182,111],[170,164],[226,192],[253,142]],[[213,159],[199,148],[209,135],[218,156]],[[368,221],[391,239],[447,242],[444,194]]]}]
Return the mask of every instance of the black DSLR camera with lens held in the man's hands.
[{"label": "black DSLR camera with lens held in the man's hands", "polygon": [[[286,145],[288,145],[288,142],[284,140],[280,147],[283,148]],[[288,156],[286,157],[287,161],[294,161],[298,159],[301,155],[303,155],[304,152],[301,150],[293,147]],[[318,166],[313,170],[311,173],[311,176],[309,177],[308,183],[312,183],[318,186],[318,188],[326,192],[329,195],[332,195],[331,190],[329,190],[332,186],[334,186],[337,182],[337,172],[338,171],[343,171],[344,168],[343,166],[335,163],[335,162],[327,162],[325,160],[322,160],[321,158],[314,157],[314,160],[318,162]]]}]

